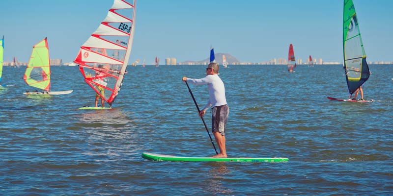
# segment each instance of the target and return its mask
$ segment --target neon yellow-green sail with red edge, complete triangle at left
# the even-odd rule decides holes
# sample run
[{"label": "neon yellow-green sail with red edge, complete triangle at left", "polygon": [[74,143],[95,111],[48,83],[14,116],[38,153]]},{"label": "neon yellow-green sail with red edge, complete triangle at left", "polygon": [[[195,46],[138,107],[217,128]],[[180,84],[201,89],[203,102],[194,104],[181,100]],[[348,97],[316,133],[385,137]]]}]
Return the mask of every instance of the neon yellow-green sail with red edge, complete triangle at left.
[{"label": "neon yellow-green sail with red edge, complete triangle at left", "polygon": [[29,86],[44,91],[51,90],[51,65],[47,38],[33,46],[23,79]]}]

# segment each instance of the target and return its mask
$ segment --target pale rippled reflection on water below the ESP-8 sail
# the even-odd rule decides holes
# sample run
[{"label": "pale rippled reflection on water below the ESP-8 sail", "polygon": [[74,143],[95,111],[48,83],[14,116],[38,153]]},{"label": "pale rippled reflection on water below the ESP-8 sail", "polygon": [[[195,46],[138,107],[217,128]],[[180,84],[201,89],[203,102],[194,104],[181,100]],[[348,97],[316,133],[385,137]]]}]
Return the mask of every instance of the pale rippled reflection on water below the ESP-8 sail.
[{"label": "pale rippled reflection on water below the ESP-8 sail", "polygon": [[85,142],[94,148],[83,154],[109,158],[101,161],[116,161],[140,151],[143,147],[138,144],[141,134],[128,114],[117,108],[83,113],[79,118],[83,123],[78,126],[86,133]]}]

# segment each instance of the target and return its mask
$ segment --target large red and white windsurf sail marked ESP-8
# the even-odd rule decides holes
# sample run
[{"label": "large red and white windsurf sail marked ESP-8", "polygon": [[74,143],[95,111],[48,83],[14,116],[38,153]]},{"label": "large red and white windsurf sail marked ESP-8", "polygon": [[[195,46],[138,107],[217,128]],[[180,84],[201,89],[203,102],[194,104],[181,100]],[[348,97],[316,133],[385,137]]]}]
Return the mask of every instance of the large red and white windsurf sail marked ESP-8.
[{"label": "large red and white windsurf sail marked ESP-8", "polygon": [[[106,18],[81,46],[74,60],[79,64],[84,81],[110,106],[123,84],[133,43],[135,17],[136,0],[114,0]],[[99,52],[103,49],[105,53]]]}]

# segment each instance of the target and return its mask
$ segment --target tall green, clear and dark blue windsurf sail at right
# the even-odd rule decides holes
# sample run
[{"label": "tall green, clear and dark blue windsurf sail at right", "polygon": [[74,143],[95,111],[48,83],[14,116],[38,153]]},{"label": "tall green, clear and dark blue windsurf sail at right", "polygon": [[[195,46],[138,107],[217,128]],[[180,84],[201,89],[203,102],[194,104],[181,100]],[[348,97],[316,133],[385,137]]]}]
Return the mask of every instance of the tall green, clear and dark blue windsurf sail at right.
[{"label": "tall green, clear and dark blue windsurf sail at right", "polygon": [[370,70],[365,60],[365,48],[360,35],[358,18],[352,0],[344,0],[342,44],[345,77],[348,91],[352,95],[370,76]]}]

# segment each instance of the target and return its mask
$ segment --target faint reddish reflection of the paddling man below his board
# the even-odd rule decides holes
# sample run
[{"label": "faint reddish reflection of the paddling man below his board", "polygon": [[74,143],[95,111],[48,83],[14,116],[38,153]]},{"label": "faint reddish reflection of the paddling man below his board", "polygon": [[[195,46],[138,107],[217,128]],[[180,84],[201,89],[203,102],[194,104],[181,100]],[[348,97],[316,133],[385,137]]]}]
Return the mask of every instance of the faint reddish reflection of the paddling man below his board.
[{"label": "faint reddish reflection of the paddling man below his board", "polygon": [[[210,164],[209,164],[210,165]],[[226,167],[225,163],[213,163],[211,164],[212,169],[208,173],[208,186],[206,192],[212,195],[220,194],[232,194],[233,190],[225,187],[225,175],[230,173],[230,170]]]}]

